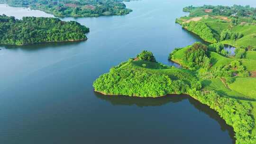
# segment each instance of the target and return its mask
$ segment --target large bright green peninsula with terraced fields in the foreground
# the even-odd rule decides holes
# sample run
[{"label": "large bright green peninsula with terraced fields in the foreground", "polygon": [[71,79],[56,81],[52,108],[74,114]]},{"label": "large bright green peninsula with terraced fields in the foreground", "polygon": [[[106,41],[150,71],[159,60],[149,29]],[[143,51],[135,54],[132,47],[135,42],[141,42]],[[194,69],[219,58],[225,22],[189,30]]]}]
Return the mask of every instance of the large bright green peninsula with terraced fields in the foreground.
[{"label": "large bright green peninsula with terraced fields in the foreground", "polygon": [[[197,42],[176,48],[169,60],[183,68],[158,63],[151,52],[143,51],[102,74],[93,87],[103,95],[143,98],[188,94],[217,111],[234,128],[236,144],[255,144],[256,78],[251,72],[256,70],[252,64],[256,60],[228,58],[217,53],[222,47]],[[240,88],[241,81],[249,86]],[[246,93],[241,95],[243,91]]]}]

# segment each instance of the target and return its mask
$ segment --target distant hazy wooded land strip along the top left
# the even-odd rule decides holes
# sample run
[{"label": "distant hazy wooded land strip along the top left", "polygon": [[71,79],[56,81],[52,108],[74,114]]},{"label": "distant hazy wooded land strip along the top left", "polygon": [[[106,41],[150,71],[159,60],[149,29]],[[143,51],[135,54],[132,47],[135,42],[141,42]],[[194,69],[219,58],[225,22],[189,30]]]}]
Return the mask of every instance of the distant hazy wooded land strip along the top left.
[{"label": "distant hazy wooded land strip along the top left", "polygon": [[99,17],[126,15],[123,0],[0,0],[12,7],[29,7],[42,10],[56,17]]}]

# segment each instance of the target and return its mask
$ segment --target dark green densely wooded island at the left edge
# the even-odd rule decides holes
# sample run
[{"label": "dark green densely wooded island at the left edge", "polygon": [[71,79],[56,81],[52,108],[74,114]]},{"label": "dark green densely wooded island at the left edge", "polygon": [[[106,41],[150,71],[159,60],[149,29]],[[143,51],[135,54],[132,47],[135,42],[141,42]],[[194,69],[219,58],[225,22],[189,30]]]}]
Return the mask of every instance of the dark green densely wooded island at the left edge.
[{"label": "dark green densely wooded island at the left edge", "polygon": [[89,28],[75,21],[59,18],[23,17],[16,19],[0,15],[1,45],[30,45],[48,42],[86,40]]}]

